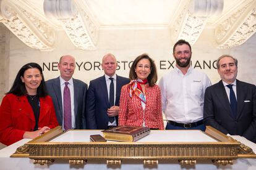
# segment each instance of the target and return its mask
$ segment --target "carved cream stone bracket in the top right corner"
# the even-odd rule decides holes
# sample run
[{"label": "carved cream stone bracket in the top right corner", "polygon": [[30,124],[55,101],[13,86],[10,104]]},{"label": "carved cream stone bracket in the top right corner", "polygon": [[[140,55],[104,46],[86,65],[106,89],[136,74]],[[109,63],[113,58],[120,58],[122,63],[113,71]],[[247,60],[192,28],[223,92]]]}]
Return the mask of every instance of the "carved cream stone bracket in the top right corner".
[{"label": "carved cream stone bracket in the top right corner", "polygon": [[256,32],[256,1],[234,12],[215,28],[220,49],[239,46]]}]

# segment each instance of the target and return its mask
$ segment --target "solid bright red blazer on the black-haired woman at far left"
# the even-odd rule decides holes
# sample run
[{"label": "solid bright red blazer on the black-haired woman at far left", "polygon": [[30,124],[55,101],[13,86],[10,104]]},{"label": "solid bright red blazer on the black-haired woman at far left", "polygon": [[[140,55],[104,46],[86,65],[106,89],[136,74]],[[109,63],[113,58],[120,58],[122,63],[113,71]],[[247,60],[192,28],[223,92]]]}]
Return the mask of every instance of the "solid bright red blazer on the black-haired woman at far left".
[{"label": "solid bright red blazer on the black-haired woman at far left", "polygon": [[[40,97],[40,116],[38,127],[58,126],[51,97]],[[35,116],[27,96],[7,94],[0,107],[0,142],[11,145],[23,139],[26,131],[33,131]]]}]

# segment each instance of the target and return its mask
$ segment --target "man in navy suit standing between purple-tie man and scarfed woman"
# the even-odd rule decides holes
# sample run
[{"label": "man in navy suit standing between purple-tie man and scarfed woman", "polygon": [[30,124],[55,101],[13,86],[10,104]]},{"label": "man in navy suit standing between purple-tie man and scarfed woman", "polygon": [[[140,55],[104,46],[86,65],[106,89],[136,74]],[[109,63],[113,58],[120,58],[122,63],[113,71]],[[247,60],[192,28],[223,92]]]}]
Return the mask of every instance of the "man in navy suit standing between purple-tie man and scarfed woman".
[{"label": "man in navy suit standing between purple-tie man and scarfed woman", "polygon": [[[90,81],[87,94],[86,120],[88,129],[108,129],[118,125],[121,87],[129,83],[128,78],[116,75],[116,57],[106,54],[101,63],[105,75]],[[113,83],[113,104],[111,104]]]}]

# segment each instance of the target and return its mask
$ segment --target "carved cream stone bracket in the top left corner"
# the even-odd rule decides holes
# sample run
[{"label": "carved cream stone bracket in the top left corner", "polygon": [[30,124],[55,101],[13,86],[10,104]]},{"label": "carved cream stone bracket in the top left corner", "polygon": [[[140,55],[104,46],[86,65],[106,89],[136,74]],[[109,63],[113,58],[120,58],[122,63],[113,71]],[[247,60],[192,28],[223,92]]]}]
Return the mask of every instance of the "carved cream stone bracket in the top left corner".
[{"label": "carved cream stone bracket in the top left corner", "polygon": [[47,23],[10,1],[1,0],[0,6],[4,18],[1,22],[27,46],[41,51],[54,49],[54,30]]}]

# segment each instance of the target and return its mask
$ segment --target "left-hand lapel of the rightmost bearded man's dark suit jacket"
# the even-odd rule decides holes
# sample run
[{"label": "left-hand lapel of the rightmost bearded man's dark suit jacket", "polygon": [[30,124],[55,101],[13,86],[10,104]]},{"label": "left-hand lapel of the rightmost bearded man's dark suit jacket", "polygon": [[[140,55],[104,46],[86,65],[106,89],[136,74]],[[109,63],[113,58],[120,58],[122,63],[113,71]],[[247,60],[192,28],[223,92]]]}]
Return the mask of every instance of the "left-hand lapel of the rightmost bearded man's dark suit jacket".
[{"label": "left-hand lapel of the rightmost bearded man's dark suit jacket", "polygon": [[216,95],[217,95],[219,101],[221,101],[221,104],[223,105],[223,108],[226,110],[226,112],[232,118],[234,118],[231,107],[230,107],[230,103],[229,103],[229,100],[228,100],[228,95],[227,95],[227,92],[225,90],[225,87],[224,87],[222,81],[219,81],[217,90],[218,91],[216,91]]}]

